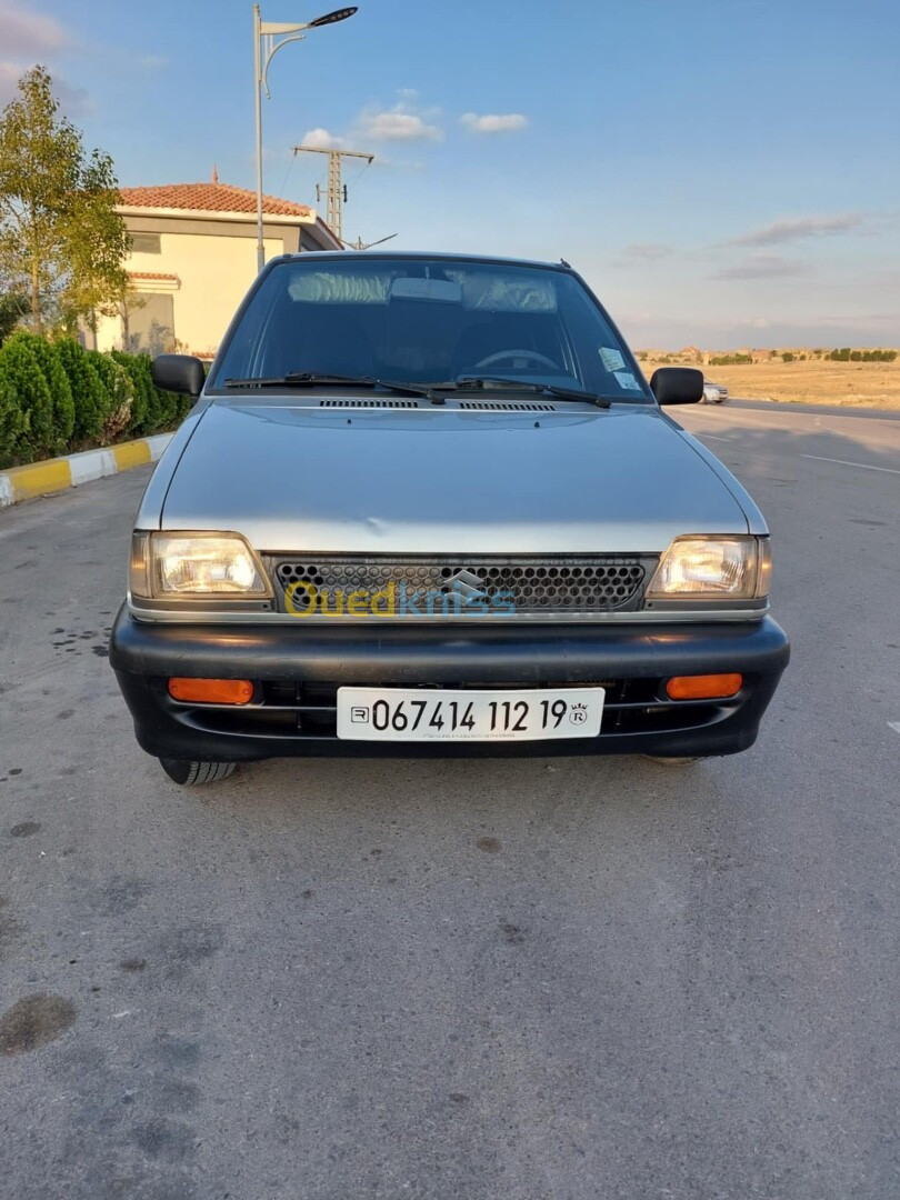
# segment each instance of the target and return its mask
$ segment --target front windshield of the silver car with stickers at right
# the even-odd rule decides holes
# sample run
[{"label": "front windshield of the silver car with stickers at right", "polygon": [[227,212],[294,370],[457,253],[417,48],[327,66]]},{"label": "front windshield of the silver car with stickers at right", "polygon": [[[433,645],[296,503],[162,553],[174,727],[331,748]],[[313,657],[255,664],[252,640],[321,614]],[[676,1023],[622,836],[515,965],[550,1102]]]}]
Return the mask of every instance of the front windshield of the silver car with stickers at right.
[{"label": "front windshield of the silver car with stickers at right", "polygon": [[226,380],[296,372],[397,383],[542,383],[652,402],[634,359],[568,271],[466,259],[302,258],[253,293],[218,362]]}]

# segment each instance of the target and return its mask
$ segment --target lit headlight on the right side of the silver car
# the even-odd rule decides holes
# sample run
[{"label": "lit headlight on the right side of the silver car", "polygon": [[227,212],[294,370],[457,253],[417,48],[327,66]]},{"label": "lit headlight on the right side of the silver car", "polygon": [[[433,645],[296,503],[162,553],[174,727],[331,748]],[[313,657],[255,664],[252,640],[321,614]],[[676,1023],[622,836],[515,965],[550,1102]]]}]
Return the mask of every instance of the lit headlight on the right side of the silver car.
[{"label": "lit headlight on the right side of the silver car", "polygon": [[647,600],[757,600],[768,595],[768,538],[678,538],[662,556]]}]

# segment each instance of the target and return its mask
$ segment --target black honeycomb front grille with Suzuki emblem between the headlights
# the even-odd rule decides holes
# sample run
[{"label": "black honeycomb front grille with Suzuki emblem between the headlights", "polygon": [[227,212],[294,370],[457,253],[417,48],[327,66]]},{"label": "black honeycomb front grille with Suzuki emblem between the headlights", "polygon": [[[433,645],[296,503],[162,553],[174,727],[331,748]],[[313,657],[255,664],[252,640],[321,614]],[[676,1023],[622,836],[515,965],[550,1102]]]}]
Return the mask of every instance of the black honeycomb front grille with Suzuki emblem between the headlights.
[{"label": "black honeycomb front grille with Suzuki emblem between the headlights", "polygon": [[656,562],[647,554],[275,554],[266,568],[281,612],[311,614],[316,605],[328,616],[484,618],[634,611]]}]

